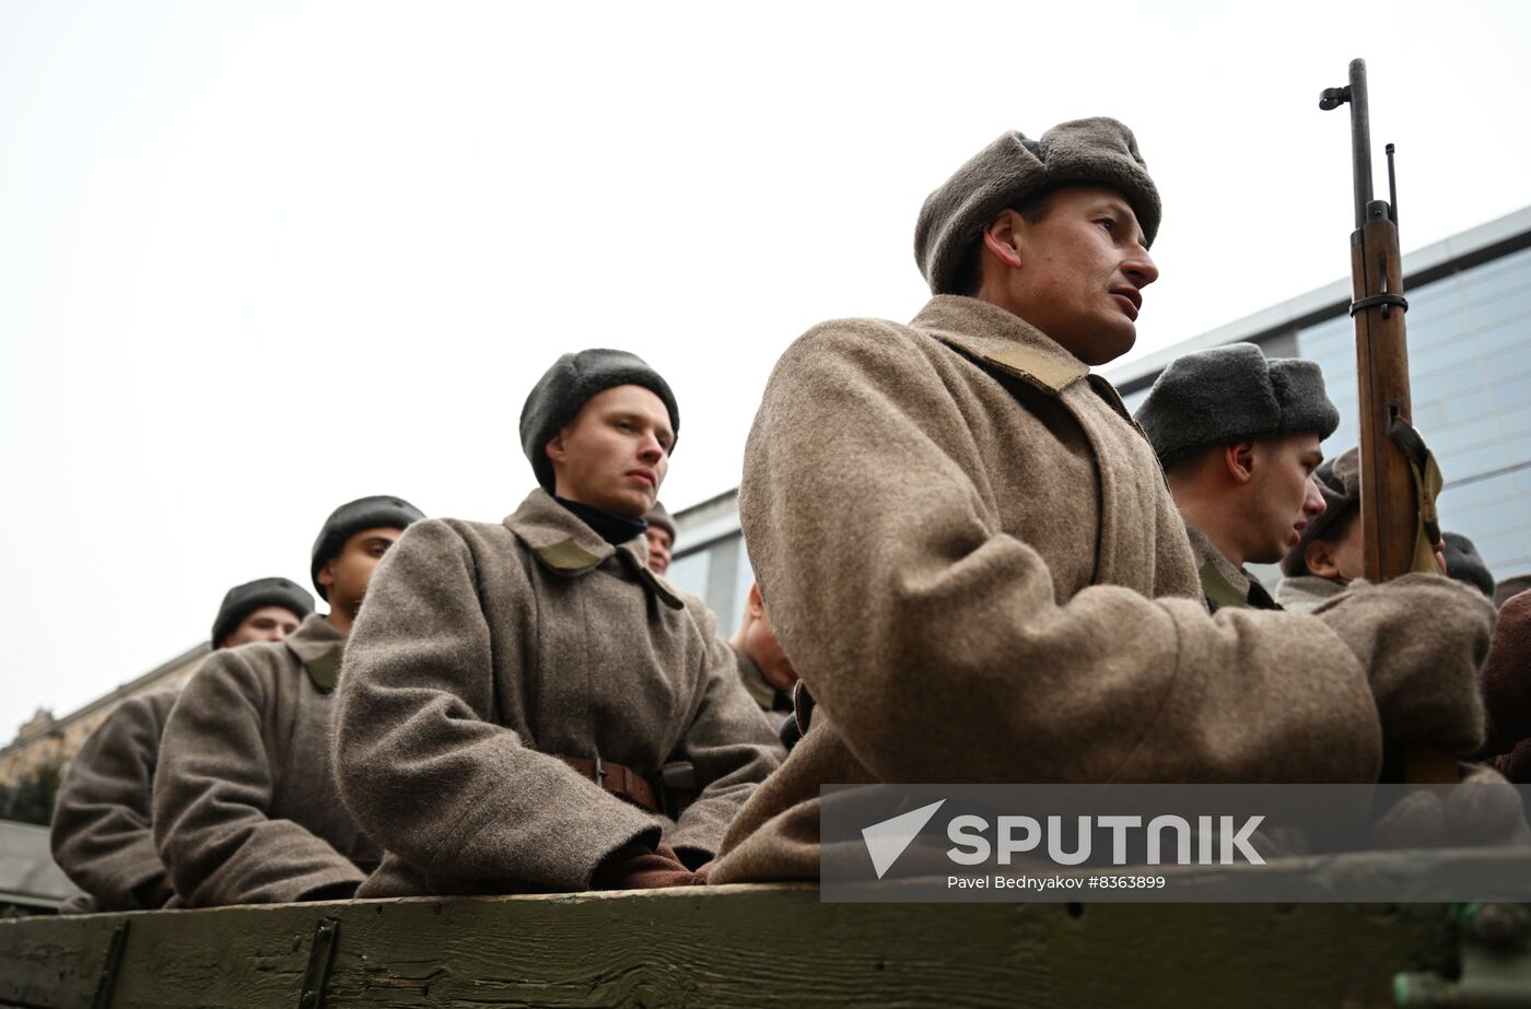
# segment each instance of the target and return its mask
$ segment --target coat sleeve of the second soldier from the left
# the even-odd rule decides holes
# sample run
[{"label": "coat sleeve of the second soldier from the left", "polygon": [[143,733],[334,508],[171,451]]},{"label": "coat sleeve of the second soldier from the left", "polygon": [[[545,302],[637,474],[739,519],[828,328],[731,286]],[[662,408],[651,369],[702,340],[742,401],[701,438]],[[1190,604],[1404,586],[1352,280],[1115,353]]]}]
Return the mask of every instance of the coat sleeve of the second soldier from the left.
[{"label": "coat sleeve of the second soldier from the left", "polygon": [[273,680],[242,649],[214,652],[165,726],[155,842],[190,906],[341,896],[366,877],[329,842],[271,816],[273,762],[282,759],[266,730]]}]

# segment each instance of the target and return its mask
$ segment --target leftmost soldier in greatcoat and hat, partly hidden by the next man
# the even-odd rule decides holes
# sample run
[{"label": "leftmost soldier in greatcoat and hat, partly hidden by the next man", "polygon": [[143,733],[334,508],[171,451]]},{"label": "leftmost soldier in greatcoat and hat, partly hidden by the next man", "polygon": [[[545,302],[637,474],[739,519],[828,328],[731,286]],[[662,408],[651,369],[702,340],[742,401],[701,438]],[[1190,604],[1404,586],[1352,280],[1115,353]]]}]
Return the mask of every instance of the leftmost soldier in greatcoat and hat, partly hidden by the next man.
[{"label": "leftmost soldier in greatcoat and hat, partly hidden by the next man", "polygon": [[[228,589],[211,646],[280,642],[314,612],[314,597],[288,579]],[[66,914],[152,911],[175,890],[150,830],[159,741],[178,691],[130,697],[90,733],[69,762],[54,804],[54,860],[83,890]]]}]

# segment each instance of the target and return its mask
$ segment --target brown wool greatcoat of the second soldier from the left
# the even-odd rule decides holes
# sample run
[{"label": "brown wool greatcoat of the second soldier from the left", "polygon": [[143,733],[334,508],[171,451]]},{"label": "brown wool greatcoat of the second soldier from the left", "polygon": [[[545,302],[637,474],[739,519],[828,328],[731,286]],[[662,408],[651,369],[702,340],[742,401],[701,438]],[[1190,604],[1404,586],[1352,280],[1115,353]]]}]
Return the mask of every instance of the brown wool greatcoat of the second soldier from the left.
[{"label": "brown wool greatcoat of the second soldier from the left", "polygon": [[346,635],[213,652],[165,726],[155,842],[191,906],[346,897],[381,854],[340,802],[329,752]]}]

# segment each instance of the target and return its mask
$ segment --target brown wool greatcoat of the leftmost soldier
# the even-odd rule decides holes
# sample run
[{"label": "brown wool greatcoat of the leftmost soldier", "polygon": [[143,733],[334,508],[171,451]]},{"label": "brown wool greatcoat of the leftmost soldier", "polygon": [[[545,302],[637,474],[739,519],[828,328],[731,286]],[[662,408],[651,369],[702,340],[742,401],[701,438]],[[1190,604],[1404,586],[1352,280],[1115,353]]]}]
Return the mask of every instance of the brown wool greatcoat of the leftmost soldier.
[{"label": "brown wool greatcoat of the leftmost soldier", "polygon": [[159,736],[175,703],[175,691],[127,698],[69,762],[51,841],[58,868],[84,894],[66,914],[153,911],[171,897],[149,822]]}]

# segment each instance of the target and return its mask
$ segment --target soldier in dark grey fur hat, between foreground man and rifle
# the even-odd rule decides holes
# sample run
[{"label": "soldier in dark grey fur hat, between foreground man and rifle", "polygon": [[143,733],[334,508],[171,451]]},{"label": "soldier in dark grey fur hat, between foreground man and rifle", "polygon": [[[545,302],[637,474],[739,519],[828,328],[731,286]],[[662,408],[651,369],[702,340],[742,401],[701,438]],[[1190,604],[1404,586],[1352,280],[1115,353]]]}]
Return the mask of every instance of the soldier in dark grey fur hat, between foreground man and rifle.
[{"label": "soldier in dark grey fur hat, between foreground man and rifle", "polygon": [[1185,519],[1209,609],[1277,609],[1245,563],[1277,563],[1323,514],[1314,472],[1340,426],[1315,361],[1231,343],[1176,358],[1138,407]]}]

